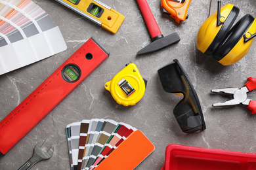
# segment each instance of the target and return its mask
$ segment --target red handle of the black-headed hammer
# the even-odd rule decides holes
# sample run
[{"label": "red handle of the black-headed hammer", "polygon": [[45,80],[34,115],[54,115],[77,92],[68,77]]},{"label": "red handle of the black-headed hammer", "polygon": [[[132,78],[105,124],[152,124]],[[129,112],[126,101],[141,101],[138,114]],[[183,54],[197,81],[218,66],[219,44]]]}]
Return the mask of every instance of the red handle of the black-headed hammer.
[{"label": "red handle of the black-headed hammer", "polygon": [[156,20],[152,14],[152,11],[150,10],[150,7],[148,6],[148,3],[146,0],[137,0],[137,3],[139,4],[140,10],[142,12],[142,16],[146,22],[146,26],[148,27],[148,31],[150,32],[151,39],[154,39],[161,36],[160,28],[158,27],[158,24],[156,23]]}]

